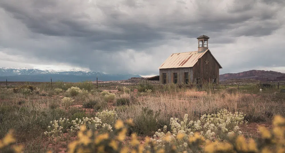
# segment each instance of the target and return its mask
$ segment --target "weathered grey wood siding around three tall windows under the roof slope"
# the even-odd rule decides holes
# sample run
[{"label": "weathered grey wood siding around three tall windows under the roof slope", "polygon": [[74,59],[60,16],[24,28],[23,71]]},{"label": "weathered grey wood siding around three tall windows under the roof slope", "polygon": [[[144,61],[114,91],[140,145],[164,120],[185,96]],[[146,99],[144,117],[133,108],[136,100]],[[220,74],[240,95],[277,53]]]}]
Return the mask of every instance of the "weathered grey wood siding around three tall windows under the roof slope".
[{"label": "weathered grey wood siding around three tall windows under the roof slope", "polygon": [[185,84],[184,73],[188,72],[189,83],[193,82],[193,68],[169,68],[169,69],[160,69],[159,78],[160,83],[163,84],[163,74],[166,73],[166,83],[174,83],[173,73],[177,73],[177,83]]}]

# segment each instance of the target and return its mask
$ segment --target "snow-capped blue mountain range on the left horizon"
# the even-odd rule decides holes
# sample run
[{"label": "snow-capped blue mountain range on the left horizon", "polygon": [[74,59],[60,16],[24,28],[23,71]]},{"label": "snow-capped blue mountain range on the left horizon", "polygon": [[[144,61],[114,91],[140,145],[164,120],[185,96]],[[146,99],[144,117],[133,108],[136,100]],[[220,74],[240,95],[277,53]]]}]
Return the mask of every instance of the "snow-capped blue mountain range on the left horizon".
[{"label": "snow-capped blue mountain range on the left horizon", "polygon": [[95,72],[89,70],[76,70],[57,72],[55,70],[40,70],[33,68],[0,68],[0,80],[6,81],[33,81],[47,82],[52,77],[53,81],[79,82],[79,81],[95,81],[96,77],[101,81],[110,80],[126,80],[131,77],[141,77],[135,74],[104,74],[103,72]]}]

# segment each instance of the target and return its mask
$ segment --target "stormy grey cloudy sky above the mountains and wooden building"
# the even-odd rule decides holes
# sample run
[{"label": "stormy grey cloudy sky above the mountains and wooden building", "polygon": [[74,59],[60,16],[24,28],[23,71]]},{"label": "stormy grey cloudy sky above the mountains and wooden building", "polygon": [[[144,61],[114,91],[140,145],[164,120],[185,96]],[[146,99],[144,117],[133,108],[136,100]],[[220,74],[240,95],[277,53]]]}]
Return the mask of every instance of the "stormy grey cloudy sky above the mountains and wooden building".
[{"label": "stormy grey cloudy sky above the mountains and wooden building", "polygon": [[284,0],[1,0],[0,67],[157,75],[198,50],[223,69],[285,73]]}]

